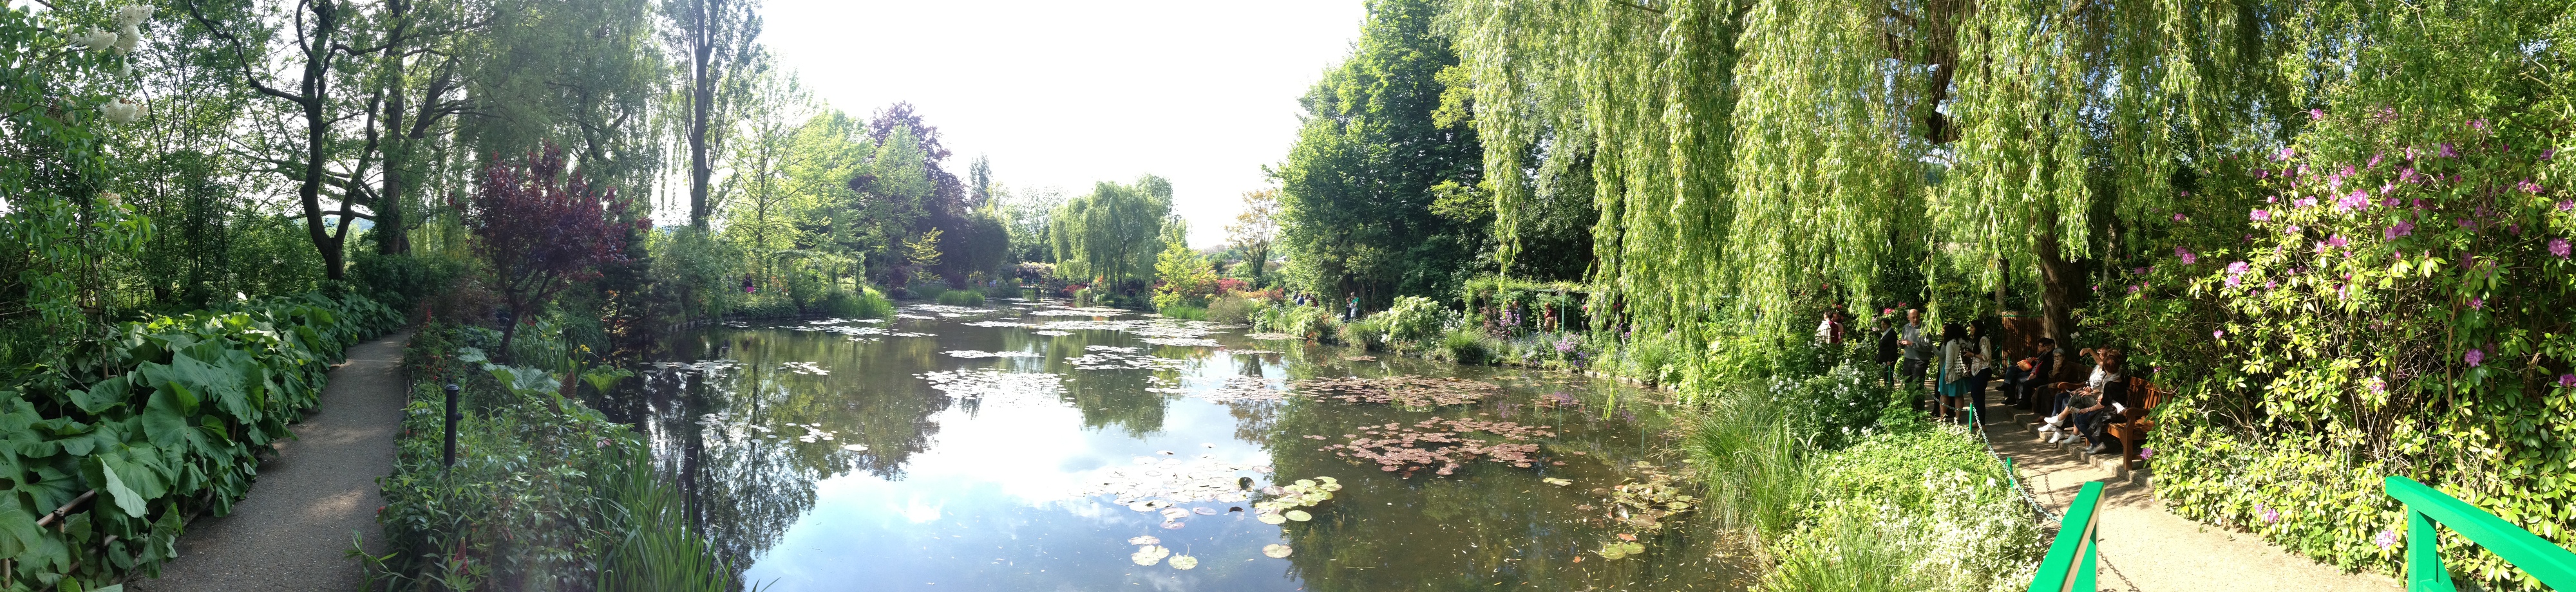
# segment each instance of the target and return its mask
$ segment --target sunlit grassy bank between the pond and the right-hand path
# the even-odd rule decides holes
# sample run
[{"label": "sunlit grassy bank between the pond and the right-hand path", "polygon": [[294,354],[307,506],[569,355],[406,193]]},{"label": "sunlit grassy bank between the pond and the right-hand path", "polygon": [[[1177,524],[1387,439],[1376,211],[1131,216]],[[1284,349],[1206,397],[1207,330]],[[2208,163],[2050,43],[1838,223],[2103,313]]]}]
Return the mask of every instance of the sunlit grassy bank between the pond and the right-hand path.
[{"label": "sunlit grassy bank between the pond and the right-hand path", "polygon": [[2020,589],[2045,541],[2007,466],[1860,363],[1710,396],[1687,453],[1759,589]]}]

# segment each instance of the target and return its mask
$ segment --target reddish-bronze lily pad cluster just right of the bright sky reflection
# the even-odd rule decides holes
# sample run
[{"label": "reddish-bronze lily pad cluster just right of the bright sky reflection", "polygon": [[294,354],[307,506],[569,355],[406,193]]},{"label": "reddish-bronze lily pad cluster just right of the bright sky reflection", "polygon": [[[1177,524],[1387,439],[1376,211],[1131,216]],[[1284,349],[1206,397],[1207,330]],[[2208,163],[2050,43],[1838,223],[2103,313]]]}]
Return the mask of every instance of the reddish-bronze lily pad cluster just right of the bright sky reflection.
[{"label": "reddish-bronze lily pad cluster just right of the bright sky reflection", "polygon": [[[1461,432],[1486,432],[1502,440],[1461,438]],[[1378,463],[1378,471],[1388,474],[1401,471],[1401,476],[1414,476],[1414,471],[1432,468],[1432,474],[1445,476],[1476,458],[1530,468],[1538,463],[1538,443],[1525,440],[1553,435],[1553,430],[1538,425],[1432,417],[1414,425],[1363,427],[1358,435],[1342,435],[1347,438],[1345,443],[1324,445],[1321,450],[1352,458],[1355,463]],[[1321,435],[1309,438],[1324,440]]]}]

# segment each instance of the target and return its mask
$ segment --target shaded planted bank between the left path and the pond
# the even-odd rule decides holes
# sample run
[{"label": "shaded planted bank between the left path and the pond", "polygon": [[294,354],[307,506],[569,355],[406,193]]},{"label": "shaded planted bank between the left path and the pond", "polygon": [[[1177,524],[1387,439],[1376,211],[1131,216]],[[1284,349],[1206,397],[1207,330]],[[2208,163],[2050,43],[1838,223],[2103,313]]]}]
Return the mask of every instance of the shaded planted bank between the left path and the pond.
[{"label": "shaded planted bank between the left path and the pond", "polygon": [[[657,479],[634,430],[567,396],[621,373],[574,365],[549,332],[422,327],[404,347],[394,474],[381,479],[389,553],[366,556],[376,589],[706,589],[734,587]],[[546,371],[556,368],[556,371]],[[577,381],[567,381],[577,373]],[[443,466],[446,384],[459,386],[456,466]],[[569,386],[569,389],[567,389]]]}]

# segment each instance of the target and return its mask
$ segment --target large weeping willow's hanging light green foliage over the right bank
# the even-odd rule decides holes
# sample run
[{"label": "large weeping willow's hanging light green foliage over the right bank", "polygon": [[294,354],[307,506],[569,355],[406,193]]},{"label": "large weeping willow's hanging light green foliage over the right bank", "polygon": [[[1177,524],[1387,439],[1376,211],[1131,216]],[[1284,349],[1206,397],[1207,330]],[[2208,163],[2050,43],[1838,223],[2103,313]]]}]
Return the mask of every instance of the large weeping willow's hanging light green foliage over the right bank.
[{"label": "large weeping willow's hanging light green foliage over the right bank", "polygon": [[[1615,317],[1692,342],[1801,306],[2040,286],[2048,332],[2125,219],[2272,142],[2282,72],[2251,3],[1486,0],[1473,72],[1502,257],[1533,170],[1589,160]],[[1940,301],[1935,301],[1935,317]],[[1965,314],[1947,314],[1965,317]]]}]

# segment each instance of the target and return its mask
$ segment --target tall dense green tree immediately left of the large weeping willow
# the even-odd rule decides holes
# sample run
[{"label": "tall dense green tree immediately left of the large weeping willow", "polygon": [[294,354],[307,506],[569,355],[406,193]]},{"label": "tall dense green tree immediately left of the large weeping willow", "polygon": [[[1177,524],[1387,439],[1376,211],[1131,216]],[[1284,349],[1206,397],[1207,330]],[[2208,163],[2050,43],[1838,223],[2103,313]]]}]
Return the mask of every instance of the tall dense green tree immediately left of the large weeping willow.
[{"label": "tall dense green tree immediately left of the large weeping willow", "polygon": [[[1301,98],[1306,116],[1280,180],[1291,281],[1316,293],[1450,296],[1489,265],[1486,224],[1440,216],[1435,185],[1484,178],[1476,131],[1437,121],[1440,72],[1458,64],[1437,0],[1373,0],[1350,59]],[[1458,111],[1453,106],[1450,111]]]}]

